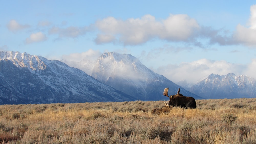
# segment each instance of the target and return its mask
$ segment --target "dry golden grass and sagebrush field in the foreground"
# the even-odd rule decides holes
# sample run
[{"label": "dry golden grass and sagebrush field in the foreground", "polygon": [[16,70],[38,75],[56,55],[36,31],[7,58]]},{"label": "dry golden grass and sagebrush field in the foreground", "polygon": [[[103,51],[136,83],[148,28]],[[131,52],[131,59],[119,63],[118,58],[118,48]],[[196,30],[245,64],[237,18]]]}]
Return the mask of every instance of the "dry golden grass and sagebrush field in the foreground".
[{"label": "dry golden grass and sagebrush field in the foreground", "polygon": [[256,98],[0,105],[1,143],[256,143]]}]

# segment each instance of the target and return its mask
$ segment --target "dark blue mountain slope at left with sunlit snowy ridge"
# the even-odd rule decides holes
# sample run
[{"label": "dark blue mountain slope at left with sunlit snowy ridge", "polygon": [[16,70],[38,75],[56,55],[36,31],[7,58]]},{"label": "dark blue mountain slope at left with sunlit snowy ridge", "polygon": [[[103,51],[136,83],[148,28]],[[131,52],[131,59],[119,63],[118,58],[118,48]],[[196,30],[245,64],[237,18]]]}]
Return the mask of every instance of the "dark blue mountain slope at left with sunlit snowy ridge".
[{"label": "dark blue mountain slope at left with sunlit snowy ridge", "polygon": [[0,52],[0,104],[133,100],[63,62],[27,53]]}]

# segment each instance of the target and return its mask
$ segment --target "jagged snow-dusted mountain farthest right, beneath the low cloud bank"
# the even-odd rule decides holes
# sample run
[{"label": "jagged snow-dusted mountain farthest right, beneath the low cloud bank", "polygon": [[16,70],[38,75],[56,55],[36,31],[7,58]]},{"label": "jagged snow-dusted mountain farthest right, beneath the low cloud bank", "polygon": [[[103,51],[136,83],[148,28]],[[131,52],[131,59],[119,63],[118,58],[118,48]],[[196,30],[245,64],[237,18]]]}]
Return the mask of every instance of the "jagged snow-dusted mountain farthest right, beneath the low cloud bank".
[{"label": "jagged snow-dusted mountain farthest right, beneath the low cloud bank", "polygon": [[246,75],[236,76],[211,74],[190,88],[190,91],[205,98],[255,98],[256,80]]}]

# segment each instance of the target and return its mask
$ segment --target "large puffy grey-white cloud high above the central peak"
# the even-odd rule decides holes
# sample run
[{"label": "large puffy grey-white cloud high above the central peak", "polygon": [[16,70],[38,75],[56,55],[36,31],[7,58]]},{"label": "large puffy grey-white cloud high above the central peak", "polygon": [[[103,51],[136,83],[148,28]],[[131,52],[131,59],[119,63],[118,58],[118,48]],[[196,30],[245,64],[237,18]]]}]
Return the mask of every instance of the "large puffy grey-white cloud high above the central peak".
[{"label": "large puffy grey-white cloud high above the central peak", "polygon": [[[125,21],[108,17],[96,22],[96,27],[107,36],[112,36],[107,42],[118,40],[125,45],[138,45],[153,38],[169,41],[187,41],[200,29],[196,20],[188,15],[170,15],[167,19],[157,21],[154,16],[145,15],[142,18],[130,18]],[[97,35],[98,43],[106,40]],[[105,35],[106,36],[106,35]],[[113,38],[113,36],[115,38]]]}]

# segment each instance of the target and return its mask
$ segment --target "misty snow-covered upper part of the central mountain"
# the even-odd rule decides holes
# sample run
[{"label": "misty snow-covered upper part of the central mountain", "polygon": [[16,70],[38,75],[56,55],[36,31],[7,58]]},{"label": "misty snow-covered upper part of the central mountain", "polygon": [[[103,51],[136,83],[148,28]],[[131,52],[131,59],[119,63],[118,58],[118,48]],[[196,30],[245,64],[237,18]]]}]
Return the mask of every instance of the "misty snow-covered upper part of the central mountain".
[{"label": "misty snow-covered upper part of the central mountain", "polygon": [[92,76],[98,80],[107,80],[109,77],[145,80],[158,75],[131,54],[107,52],[98,58],[94,65]]}]

